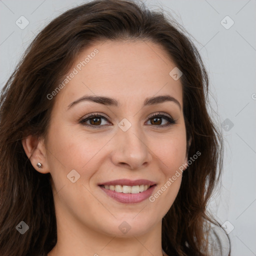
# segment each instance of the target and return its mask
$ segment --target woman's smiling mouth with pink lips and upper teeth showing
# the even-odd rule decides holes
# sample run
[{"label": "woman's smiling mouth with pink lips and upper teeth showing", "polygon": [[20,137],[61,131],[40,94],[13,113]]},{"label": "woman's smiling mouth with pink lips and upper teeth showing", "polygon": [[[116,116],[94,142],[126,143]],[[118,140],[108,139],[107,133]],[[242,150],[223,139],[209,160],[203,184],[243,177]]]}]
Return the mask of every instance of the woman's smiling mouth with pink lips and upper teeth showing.
[{"label": "woman's smiling mouth with pink lips and upper teeth showing", "polygon": [[148,198],[156,183],[147,179],[118,179],[98,184],[106,195],[122,203],[136,203]]}]

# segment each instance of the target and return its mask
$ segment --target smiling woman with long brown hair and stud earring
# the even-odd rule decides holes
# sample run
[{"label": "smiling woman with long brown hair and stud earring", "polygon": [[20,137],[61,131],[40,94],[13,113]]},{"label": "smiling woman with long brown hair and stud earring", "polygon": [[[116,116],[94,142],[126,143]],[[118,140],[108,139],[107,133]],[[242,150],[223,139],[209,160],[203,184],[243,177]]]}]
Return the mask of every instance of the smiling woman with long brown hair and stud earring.
[{"label": "smiling woman with long brown hair and stud earring", "polygon": [[0,255],[213,255],[207,90],[194,45],[143,4],[51,21],[1,93]]}]

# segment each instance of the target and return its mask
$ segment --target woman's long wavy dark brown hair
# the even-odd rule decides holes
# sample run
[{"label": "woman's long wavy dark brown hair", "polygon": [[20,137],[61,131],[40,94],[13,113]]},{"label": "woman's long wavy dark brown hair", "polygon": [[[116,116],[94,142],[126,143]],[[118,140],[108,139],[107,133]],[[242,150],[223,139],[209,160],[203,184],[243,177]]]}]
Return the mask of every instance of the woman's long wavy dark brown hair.
[{"label": "woman's long wavy dark brown hair", "polygon": [[[207,201],[222,169],[222,136],[212,122],[208,78],[184,30],[160,11],[129,0],[94,0],[52,20],[35,37],[0,96],[0,255],[48,253],[57,240],[50,174],[35,171],[21,139],[47,133],[51,93],[85,47],[103,40],[150,40],[161,45],[182,71],[183,115],[188,159],[177,197],[162,219],[162,248],[168,255],[207,255]],[[191,139],[190,146],[188,140]],[[29,231],[16,225],[23,220]]]}]

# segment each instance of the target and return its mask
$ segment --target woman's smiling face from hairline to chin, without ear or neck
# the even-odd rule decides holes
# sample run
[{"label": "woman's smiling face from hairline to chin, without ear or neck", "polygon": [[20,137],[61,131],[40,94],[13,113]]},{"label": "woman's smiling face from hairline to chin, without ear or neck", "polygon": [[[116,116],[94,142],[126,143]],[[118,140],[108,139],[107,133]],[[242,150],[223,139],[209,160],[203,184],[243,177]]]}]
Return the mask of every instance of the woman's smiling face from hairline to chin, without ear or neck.
[{"label": "woman's smiling face from hairline to chin, without ear or neck", "polygon": [[161,226],[186,162],[181,82],[166,55],[149,41],[105,41],[57,85],[45,139],[57,221],[116,236]]}]

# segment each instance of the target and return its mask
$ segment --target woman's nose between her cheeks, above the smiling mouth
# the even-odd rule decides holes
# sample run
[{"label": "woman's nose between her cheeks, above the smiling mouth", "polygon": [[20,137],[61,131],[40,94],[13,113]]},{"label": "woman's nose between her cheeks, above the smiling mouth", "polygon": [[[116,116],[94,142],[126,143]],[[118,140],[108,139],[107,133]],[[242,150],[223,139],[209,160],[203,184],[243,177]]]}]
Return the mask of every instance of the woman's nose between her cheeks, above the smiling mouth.
[{"label": "woman's nose between her cheeks, above the smiling mouth", "polygon": [[126,131],[118,128],[113,142],[114,151],[111,159],[114,165],[134,170],[143,168],[150,163],[151,150],[139,127],[131,125]]}]

